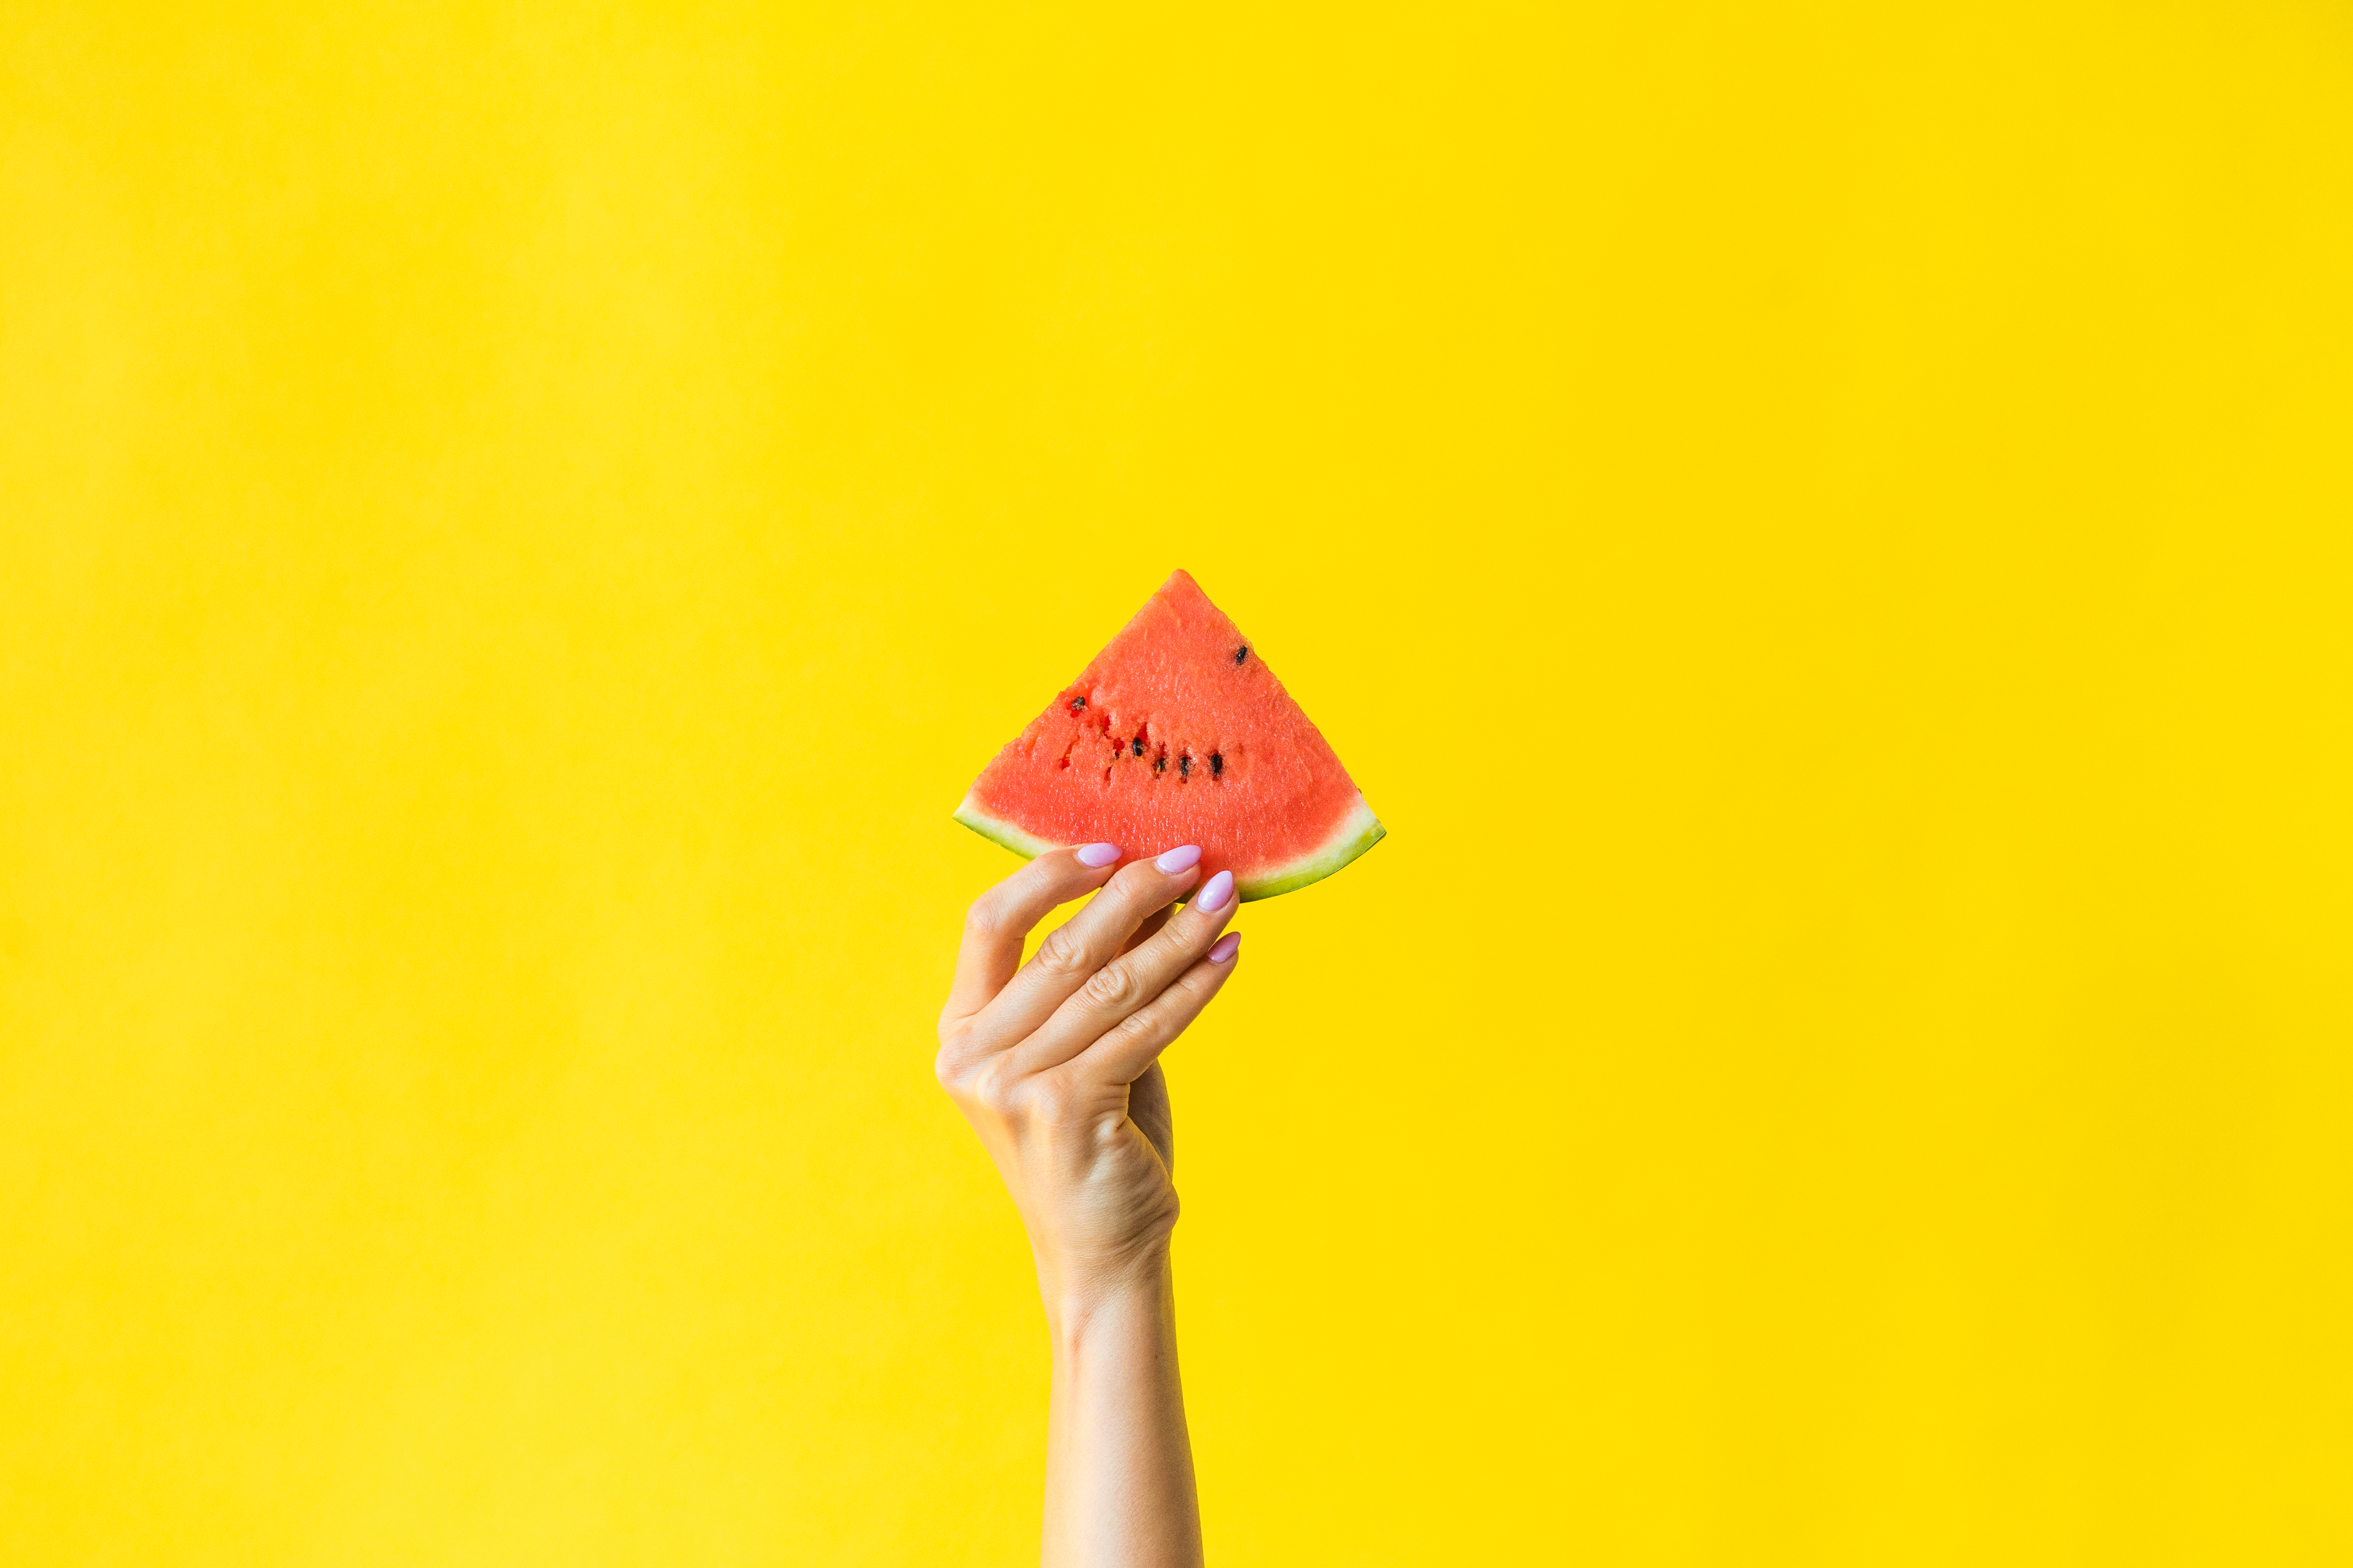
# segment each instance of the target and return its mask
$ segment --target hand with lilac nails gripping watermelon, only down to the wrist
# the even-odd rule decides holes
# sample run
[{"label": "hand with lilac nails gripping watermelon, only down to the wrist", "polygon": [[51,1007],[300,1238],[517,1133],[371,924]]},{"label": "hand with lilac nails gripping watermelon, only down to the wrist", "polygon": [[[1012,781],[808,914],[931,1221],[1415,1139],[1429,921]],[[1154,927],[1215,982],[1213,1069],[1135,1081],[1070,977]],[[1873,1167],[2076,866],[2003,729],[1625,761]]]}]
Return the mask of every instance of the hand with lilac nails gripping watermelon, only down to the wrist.
[{"label": "hand with lilac nails gripping watermelon, only down to the wrist", "polygon": [[[1047,1316],[1085,1314],[1146,1279],[1176,1225],[1160,1053],[1233,973],[1233,875],[1202,884],[1200,851],[1118,875],[1111,844],[1056,849],[984,893],[965,919],[939,1016],[939,1081],[972,1121],[1028,1227]],[[1108,882],[1108,886],[1106,886]],[[1021,964],[1049,910],[1104,889]]]}]

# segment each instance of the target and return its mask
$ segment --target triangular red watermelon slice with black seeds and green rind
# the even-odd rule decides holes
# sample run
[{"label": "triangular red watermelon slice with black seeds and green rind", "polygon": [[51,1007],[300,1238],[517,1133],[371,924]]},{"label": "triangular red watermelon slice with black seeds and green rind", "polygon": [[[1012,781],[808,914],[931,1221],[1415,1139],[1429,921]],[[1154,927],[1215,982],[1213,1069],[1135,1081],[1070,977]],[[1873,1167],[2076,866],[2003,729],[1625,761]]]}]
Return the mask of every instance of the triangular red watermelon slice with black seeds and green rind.
[{"label": "triangular red watermelon slice with black seeds and green rind", "polygon": [[998,752],[955,820],[1021,856],[1200,844],[1242,898],[1322,882],[1388,832],[1259,649],[1179,571]]}]

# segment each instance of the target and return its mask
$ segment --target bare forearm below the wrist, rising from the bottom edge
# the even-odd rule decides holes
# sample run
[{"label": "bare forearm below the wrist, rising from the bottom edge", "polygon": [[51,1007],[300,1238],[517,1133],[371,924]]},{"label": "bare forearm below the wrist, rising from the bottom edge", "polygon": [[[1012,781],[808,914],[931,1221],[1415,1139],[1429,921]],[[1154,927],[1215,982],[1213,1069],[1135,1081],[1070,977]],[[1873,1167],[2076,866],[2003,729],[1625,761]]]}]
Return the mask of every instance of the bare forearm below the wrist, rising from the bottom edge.
[{"label": "bare forearm below the wrist, rising from the bottom edge", "polygon": [[1045,1568],[1198,1568],[1167,1253],[1115,1288],[1049,1295],[1047,1324]]}]

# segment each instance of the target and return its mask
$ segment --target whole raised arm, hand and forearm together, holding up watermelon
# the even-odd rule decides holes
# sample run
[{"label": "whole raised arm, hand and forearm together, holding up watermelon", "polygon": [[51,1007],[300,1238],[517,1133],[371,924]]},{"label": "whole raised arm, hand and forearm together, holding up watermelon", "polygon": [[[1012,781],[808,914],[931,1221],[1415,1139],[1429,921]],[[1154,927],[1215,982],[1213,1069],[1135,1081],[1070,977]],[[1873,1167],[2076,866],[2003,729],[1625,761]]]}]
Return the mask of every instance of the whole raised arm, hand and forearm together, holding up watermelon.
[{"label": "whole raised arm, hand and forearm together, holding up watermelon", "polygon": [[[1024,964],[1024,936],[1087,893]],[[1160,1053],[1233,976],[1235,907],[1233,877],[1202,882],[1193,846],[1120,865],[1118,846],[1085,844],[1038,856],[965,917],[939,1081],[1005,1178],[1038,1260],[1054,1347],[1045,1568],[1200,1563]]]}]

